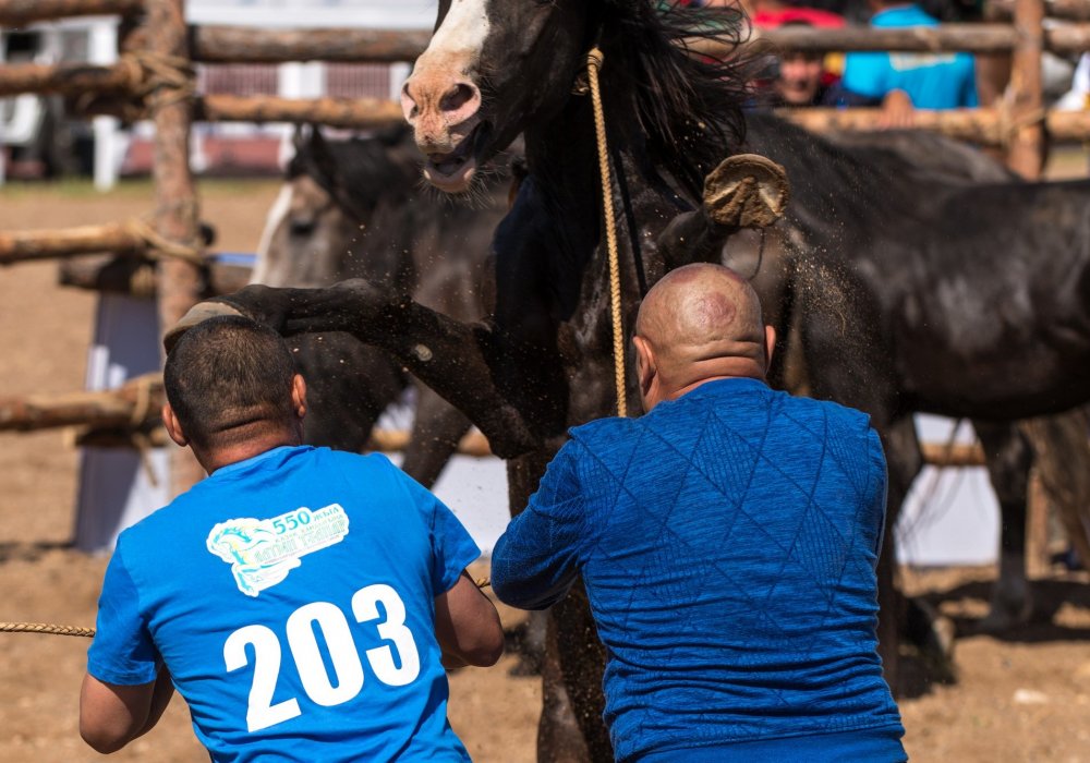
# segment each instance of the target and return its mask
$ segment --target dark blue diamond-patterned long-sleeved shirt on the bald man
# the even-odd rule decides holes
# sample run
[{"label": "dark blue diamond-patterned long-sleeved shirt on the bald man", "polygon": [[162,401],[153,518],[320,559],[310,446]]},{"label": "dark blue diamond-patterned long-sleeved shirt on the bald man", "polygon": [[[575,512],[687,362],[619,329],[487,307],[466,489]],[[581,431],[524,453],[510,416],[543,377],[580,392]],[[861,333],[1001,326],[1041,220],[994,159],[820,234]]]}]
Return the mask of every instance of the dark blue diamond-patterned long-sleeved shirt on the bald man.
[{"label": "dark blue diamond-patterned long-sleeved shirt on the bald man", "polygon": [[875,634],[885,489],[864,414],[710,382],[572,429],[493,590],[541,608],[582,573],[618,760],[901,761]]}]

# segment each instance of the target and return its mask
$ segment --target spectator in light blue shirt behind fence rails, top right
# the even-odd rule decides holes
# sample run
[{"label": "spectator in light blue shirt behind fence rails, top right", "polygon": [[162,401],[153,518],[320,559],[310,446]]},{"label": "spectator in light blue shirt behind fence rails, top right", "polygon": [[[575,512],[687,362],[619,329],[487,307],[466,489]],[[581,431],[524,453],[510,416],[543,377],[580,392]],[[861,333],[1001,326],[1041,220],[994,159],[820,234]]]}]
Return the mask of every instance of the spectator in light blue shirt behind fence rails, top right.
[{"label": "spectator in light blue shirt behind fence rails, top right", "polygon": [[[871,0],[871,26],[937,26],[919,4]],[[970,53],[850,52],[833,98],[840,106],[882,106],[885,126],[908,126],[913,109],[978,106]]]}]

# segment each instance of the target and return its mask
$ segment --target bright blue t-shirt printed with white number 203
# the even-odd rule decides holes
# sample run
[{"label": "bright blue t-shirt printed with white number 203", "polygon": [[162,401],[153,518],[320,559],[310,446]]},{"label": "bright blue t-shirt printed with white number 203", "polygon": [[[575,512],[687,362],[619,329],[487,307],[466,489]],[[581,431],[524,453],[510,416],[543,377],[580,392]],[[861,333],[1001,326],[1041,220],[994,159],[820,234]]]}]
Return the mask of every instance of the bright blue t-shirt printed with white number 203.
[{"label": "bright blue t-shirt printed with white number 203", "polygon": [[434,598],[479,555],[385,457],[276,448],[121,534],[87,669],[165,663],[215,761],[465,761]]}]

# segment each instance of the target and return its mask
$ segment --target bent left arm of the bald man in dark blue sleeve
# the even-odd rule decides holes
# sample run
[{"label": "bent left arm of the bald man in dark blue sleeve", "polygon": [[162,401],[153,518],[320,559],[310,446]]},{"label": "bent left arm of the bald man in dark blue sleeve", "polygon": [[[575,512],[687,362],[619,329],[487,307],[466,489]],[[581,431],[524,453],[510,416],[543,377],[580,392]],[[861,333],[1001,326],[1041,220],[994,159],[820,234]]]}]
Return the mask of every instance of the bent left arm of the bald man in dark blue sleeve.
[{"label": "bent left arm of the bald man in dark blue sleeve", "polygon": [[579,574],[583,501],[574,440],[556,455],[525,511],[492,552],[492,590],[505,604],[544,609],[564,598]]}]

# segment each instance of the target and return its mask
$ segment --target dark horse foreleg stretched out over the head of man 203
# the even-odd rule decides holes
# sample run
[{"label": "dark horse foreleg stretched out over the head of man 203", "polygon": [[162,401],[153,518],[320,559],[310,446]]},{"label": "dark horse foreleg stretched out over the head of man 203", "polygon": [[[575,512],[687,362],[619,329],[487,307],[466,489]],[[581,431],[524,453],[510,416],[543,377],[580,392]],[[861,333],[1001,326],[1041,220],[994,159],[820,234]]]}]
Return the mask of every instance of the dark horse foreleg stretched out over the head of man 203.
[{"label": "dark horse foreleg stretched out over the head of man 203", "polygon": [[202,302],[167,335],[172,347],[190,327],[214,315],[238,314],[284,336],[344,331],[391,353],[413,375],[465,413],[500,458],[540,444],[522,414],[500,393],[494,364],[504,353],[491,332],[449,318],[392,289],[362,279],[322,289],[245,289]]}]

